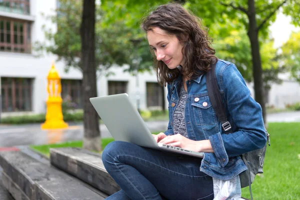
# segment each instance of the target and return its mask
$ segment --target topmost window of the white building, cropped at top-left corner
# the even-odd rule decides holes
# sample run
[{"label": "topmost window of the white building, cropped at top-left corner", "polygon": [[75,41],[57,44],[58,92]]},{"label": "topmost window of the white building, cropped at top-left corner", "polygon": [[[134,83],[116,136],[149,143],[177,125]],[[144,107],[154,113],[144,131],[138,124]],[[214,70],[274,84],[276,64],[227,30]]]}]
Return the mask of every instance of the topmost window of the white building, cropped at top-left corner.
[{"label": "topmost window of the white building, cropped at top-left corner", "polygon": [[0,11],[30,14],[30,0],[0,0]]}]

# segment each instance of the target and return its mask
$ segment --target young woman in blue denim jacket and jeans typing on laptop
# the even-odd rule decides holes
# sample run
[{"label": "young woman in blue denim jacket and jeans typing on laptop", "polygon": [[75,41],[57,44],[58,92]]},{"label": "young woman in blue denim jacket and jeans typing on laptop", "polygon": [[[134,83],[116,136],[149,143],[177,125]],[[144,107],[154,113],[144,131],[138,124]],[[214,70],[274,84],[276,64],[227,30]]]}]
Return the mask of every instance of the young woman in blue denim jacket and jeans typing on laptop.
[{"label": "young woman in blue denim jacket and jeans typing on laptop", "polygon": [[[121,190],[107,199],[239,199],[242,153],[266,143],[261,107],[236,66],[218,60],[200,20],[179,4],[158,6],[143,21],[157,79],[168,89],[169,123],[157,142],[204,152],[203,159],[114,141],[102,160]],[[205,72],[215,73],[233,133],[211,107]],[[180,66],[180,67],[177,67]]]}]

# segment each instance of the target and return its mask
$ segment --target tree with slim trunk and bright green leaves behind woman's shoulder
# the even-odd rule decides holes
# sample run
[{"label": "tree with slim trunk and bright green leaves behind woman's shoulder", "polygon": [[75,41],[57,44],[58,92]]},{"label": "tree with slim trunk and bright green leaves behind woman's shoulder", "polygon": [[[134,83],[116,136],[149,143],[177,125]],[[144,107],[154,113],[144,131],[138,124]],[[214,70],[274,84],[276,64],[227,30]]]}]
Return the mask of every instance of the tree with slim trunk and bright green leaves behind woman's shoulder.
[{"label": "tree with slim trunk and bright green leaves behind woman's shoulder", "polygon": [[[127,11],[136,12],[137,1],[138,0],[123,0],[123,4],[127,7]],[[237,21],[238,26],[246,31],[249,39],[251,63],[246,65],[247,69],[244,69],[244,72],[246,72],[246,75],[248,75],[249,71],[252,73],[251,76],[254,82],[255,100],[262,107],[263,118],[265,121],[263,70],[260,45],[263,43],[264,39],[268,38],[268,26],[275,20],[279,8],[282,7],[283,13],[291,16],[295,25],[300,24],[300,15],[298,14],[300,3],[298,0],[272,0],[271,2],[265,0],[218,0],[216,2],[211,0],[175,1],[183,2],[183,6],[191,9],[193,13],[201,17],[204,25],[209,29],[215,29],[214,26],[218,26],[220,21],[224,21],[225,15],[230,20]],[[148,9],[157,3],[162,4],[165,2],[166,0],[144,0],[141,7],[148,6]],[[139,9],[140,16],[147,9]],[[132,18],[128,19],[128,21],[130,20],[132,20]],[[230,23],[228,23],[228,21],[226,22],[226,25],[230,26]],[[230,31],[230,29],[228,29],[228,31]],[[221,34],[227,34],[228,31],[223,31]],[[260,33],[260,35],[258,33]],[[246,78],[248,78],[248,76],[246,76]]]}]

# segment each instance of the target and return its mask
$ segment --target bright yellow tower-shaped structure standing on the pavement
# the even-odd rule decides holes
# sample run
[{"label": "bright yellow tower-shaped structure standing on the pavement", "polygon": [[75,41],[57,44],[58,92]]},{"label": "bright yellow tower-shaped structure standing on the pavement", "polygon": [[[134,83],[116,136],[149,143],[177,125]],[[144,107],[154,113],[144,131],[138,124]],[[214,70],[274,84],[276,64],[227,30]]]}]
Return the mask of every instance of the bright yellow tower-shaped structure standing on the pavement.
[{"label": "bright yellow tower-shaped structure standing on the pavement", "polygon": [[67,123],[63,121],[62,111],[61,111],[61,83],[58,72],[52,63],[51,69],[47,76],[48,84],[48,99],[47,112],[46,112],[46,121],[41,124],[41,129],[52,129],[52,128],[66,128],[68,127]]}]

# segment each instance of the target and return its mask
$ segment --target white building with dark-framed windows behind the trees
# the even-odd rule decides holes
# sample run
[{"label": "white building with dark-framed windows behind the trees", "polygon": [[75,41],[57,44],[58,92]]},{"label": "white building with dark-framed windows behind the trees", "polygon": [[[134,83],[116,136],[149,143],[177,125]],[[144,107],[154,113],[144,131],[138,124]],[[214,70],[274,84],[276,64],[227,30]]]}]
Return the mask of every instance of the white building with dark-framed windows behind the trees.
[{"label": "white building with dark-framed windows behind the trees", "polygon": [[[56,29],[44,16],[55,14],[56,0],[0,0],[0,83],[2,116],[45,112],[47,73],[55,55],[36,57],[35,41],[44,41],[42,26]],[[55,62],[61,76],[62,98],[67,95],[82,108],[82,73],[77,69],[64,71],[63,62]],[[115,75],[98,75],[98,96],[127,92],[140,109],[165,108],[166,88],[159,86],[155,73],[135,76],[112,67]],[[136,95],[138,91],[139,95]]]}]

